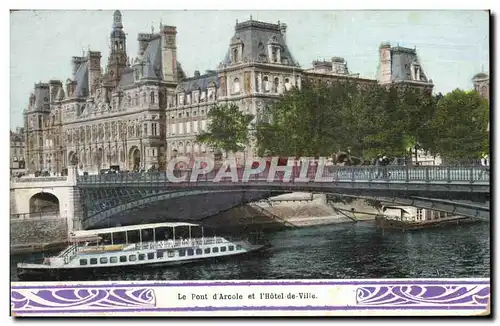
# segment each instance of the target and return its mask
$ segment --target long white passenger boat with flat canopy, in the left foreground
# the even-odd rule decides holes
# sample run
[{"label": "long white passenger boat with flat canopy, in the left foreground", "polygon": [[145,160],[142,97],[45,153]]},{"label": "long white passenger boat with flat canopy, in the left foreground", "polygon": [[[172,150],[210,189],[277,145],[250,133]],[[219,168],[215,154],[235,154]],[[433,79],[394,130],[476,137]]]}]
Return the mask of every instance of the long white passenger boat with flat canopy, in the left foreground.
[{"label": "long white passenger boat with flat canopy, in the left foreground", "polygon": [[[186,234],[186,229],[187,237],[182,238],[180,234]],[[201,230],[200,236],[193,237],[195,230]],[[229,239],[215,235],[205,237],[203,227],[191,223],[155,223],[74,231],[69,234],[69,243],[57,256],[45,258],[43,263],[19,263],[19,279],[51,279],[110,269],[179,265],[246,254],[268,247],[259,238],[251,241],[249,238]]]}]

